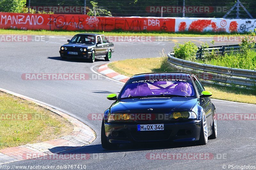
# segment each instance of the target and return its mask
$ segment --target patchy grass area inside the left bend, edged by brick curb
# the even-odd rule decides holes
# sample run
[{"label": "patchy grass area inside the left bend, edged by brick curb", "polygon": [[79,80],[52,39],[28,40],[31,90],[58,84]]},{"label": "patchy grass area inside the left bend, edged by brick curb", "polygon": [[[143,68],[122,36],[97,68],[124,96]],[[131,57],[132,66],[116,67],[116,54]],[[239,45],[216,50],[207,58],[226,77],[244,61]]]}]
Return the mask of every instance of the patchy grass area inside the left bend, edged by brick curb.
[{"label": "patchy grass area inside the left bend, edged by brick curb", "polygon": [[0,149],[55,139],[73,130],[65,118],[3,92],[0,115]]}]

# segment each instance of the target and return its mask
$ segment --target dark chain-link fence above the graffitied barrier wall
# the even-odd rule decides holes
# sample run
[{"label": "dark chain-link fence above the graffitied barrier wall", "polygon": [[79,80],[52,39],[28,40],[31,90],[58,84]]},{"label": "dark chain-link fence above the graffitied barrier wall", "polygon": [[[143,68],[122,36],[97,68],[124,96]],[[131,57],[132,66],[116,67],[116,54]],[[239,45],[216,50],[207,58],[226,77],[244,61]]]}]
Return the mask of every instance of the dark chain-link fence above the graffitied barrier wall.
[{"label": "dark chain-link fence above the graffitied barrier wall", "polygon": [[[16,1],[26,1],[26,6],[35,9],[36,12],[41,10],[64,14],[87,13],[114,17],[256,18],[255,0],[94,0],[96,4],[91,0],[1,0],[0,11],[13,12],[8,8],[15,5],[9,4]],[[105,11],[99,12],[100,10]]]}]

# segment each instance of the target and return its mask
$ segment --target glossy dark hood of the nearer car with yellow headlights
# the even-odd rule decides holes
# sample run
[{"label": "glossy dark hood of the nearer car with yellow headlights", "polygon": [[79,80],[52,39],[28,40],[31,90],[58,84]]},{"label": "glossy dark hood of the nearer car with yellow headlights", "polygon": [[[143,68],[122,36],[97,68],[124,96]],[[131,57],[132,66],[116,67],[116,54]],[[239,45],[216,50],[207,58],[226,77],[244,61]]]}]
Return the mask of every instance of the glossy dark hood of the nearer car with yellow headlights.
[{"label": "glossy dark hood of the nearer car with yellow headlights", "polygon": [[[188,111],[199,100],[191,97],[136,98],[116,101],[111,106],[111,113],[169,113]],[[152,111],[148,109],[153,109]]]}]

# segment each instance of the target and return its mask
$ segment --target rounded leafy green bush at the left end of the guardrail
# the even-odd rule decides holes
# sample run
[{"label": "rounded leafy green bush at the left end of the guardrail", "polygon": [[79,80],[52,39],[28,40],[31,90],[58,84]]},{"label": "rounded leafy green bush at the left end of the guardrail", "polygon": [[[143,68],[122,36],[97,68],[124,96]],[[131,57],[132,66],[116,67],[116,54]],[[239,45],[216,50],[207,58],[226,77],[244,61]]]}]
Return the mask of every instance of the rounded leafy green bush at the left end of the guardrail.
[{"label": "rounded leafy green bush at the left end of the guardrail", "polygon": [[184,42],[184,44],[175,43],[173,50],[175,57],[179,59],[190,61],[196,60],[196,52],[198,48],[196,47],[196,44],[190,41]]}]

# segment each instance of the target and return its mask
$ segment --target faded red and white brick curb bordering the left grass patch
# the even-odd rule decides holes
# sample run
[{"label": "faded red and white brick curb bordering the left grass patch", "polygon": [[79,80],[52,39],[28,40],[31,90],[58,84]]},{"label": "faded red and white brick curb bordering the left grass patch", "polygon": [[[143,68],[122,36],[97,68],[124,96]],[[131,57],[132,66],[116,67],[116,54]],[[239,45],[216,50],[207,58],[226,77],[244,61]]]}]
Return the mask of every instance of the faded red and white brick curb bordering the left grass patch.
[{"label": "faded red and white brick curb bordering the left grass patch", "polygon": [[73,131],[67,136],[62,136],[53,140],[48,140],[44,142],[39,142],[35,144],[26,144],[16,147],[10,147],[0,150],[0,165],[10,162],[15,162],[19,160],[37,158],[40,156],[52,155],[55,153],[65,152],[77,147],[88,145],[96,139],[95,132],[84,123],[79,120],[59,111],[46,106],[42,103],[36,102],[27,96],[23,96],[9,90],[1,89],[0,91],[12,94],[14,96],[20,97],[24,100],[36,103],[37,105],[44,107],[52,112],[66,118],[73,126]]}]

